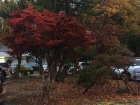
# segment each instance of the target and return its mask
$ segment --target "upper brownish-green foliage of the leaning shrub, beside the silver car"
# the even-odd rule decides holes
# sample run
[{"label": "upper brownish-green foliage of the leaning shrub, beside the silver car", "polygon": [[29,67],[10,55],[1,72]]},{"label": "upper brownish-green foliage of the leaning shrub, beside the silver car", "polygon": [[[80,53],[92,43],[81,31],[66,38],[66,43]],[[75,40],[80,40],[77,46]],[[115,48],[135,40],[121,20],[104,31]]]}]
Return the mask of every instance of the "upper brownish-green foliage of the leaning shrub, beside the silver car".
[{"label": "upper brownish-green foliage of the leaning shrub, beside the silver car", "polygon": [[112,47],[103,54],[99,54],[95,57],[93,64],[98,67],[114,66],[117,69],[124,69],[133,65],[134,61],[131,61],[131,57],[134,55],[126,47],[122,47],[119,44]]}]

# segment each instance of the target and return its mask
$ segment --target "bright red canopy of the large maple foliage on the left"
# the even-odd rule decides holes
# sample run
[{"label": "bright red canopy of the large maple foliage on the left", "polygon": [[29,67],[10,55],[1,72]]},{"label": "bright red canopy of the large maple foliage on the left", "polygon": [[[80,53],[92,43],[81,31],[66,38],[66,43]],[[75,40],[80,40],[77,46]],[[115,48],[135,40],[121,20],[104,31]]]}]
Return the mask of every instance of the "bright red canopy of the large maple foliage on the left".
[{"label": "bright red canopy of the large maple foliage on the left", "polygon": [[13,34],[1,39],[15,54],[31,52],[36,46],[59,54],[74,51],[75,47],[89,51],[94,42],[74,17],[48,10],[39,13],[30,3],[27,9],[13,12],[10,17],[8,25],[13,28]]}]

